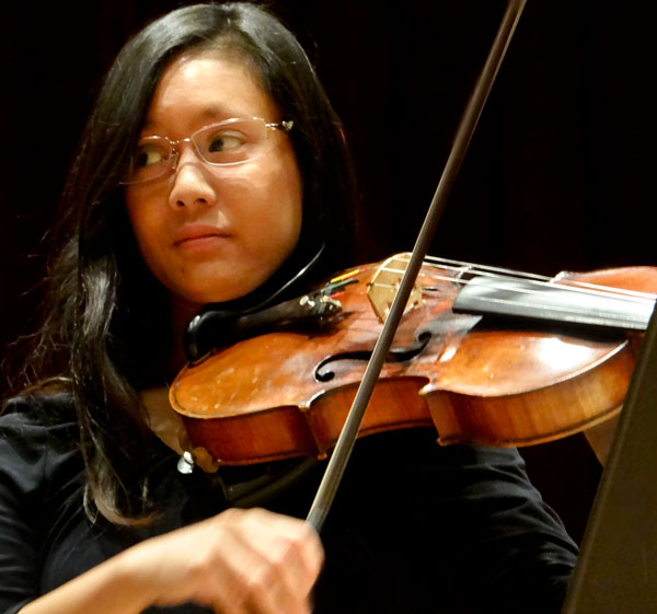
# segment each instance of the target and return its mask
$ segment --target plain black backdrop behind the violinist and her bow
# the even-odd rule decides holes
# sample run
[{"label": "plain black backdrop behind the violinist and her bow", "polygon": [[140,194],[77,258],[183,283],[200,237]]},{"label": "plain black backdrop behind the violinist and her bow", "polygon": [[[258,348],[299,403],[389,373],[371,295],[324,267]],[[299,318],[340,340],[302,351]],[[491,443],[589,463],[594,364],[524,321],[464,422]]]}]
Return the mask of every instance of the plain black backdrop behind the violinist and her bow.
[{"label": "plain black backdrop behind the violinist and her bow", "polygon": [[[189,2],[8,3],[1,20],[3,346],[30,331],[41,238],[101,77]],[[497,31],[499,0],[280,0],[343,117],[360,257],[410,250]],[[650,2],[528,0],[431,254],[541,274],[655,265]],[[32,289],[32,290],[31,290]],[[527,450],[579,538],[599,476],[580,436]]]}]

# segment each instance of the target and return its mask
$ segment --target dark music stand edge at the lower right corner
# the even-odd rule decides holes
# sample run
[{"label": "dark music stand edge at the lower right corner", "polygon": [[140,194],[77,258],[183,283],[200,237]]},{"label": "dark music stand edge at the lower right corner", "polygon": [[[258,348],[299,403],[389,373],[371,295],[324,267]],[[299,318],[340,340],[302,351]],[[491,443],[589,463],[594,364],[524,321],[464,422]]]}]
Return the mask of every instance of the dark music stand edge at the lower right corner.
[{"label": "dark music stand edge at the lower right corner", "polygon": [[657,612],[656,314],[632,373],[562,614]]}]

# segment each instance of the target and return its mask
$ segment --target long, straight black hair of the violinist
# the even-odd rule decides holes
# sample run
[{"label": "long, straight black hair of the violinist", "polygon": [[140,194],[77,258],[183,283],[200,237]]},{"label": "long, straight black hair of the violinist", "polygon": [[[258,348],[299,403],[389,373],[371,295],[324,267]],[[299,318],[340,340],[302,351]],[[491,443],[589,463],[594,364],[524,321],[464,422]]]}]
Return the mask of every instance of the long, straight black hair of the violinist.
[{"label": "long, straight black hair of the violinist", "polygon": [[281,117],[293,120],[301,238],[267,291],[321,246],[315,277],[349,264],[354,186],[344,132],[289,30],[262,7],[230,2],[177,9],[135,36],[104,81],[70,170],[44,323],[23,370],[28,382],[55,381],[72,393],[87,501],[119,523],[149,511],[142,471],[152,433],[136,391],[163,383],[157,357],[168,352],[169,326],[165,293],[138,254],[120,181],[162,71],[191,49],[251,62]]}]

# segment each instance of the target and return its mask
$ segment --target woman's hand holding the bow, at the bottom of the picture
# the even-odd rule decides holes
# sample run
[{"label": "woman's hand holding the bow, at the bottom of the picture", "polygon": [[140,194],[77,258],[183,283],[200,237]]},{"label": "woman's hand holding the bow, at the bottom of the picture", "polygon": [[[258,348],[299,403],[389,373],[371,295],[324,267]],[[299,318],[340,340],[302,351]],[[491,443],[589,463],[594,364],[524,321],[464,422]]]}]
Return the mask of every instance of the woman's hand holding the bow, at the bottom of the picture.
[{"label": "woman's hand holding the bow, at the bottom of the picture", "polygon": [[324,558],[307,522],[262,509],[230,509],[120,556],[150,604],[194,601],[218,614],[309,614]]}]

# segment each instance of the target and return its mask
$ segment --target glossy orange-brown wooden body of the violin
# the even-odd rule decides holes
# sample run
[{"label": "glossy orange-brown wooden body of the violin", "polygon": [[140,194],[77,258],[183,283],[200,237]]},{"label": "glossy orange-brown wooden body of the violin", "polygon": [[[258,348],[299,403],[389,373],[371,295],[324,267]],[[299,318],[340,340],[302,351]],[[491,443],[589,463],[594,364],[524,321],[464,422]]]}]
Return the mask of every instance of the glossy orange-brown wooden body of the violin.
[{"label": "glossy orange-brown wooden body of the violin", "polygon": [[[170,389],[189,439],[218,462],[324,456],[335,444],[381,322],[368,299],[378,265],[355,269],[341,318],[318,331],[277,331],[187,366]],[[436,275],[439,269],[440,275]],[[424,265],[359,436],[434,426],[438,442],[528,445],[616,414],[634,367],[626,336],[498,327],[452,310],[459,273]],[[657,291],[657,268],[562,274],[612,289]]]}]

